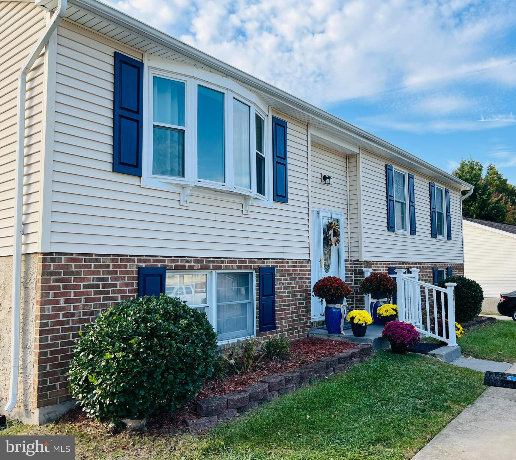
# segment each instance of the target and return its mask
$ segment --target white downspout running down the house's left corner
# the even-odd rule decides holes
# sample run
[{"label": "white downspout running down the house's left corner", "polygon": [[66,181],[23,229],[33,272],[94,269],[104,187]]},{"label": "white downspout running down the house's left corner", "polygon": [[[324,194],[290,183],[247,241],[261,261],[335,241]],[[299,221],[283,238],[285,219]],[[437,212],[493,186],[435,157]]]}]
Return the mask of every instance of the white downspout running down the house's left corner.
[{"label": "white downspout running down the house's left corner", "polygon": [[67,0],[58,0],[57,8],[41,37],[22,65],[18,76],[18,108],[16,120],[16,175],[14,178],[14,241],[12,245],[12,298],[11,298],[11,378],[9,400],[5,406],[11,412],[18,401],[18,373],[20,368],[20,302],[22,278],[22,235],[23,235],[23,167],[25,163],[25,93],[27,74],[34,65],[44,46],[57,29],[65,15]]}]

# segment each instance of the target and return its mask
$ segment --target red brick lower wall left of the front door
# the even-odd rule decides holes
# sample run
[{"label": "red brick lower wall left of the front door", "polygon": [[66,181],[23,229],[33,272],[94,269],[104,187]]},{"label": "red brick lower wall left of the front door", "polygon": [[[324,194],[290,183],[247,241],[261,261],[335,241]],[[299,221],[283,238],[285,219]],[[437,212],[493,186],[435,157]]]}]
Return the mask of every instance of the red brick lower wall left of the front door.
[{"label": "red brick lower wall left of the front door", "polygon": [[[186,259],[110,254],[40,254],[36,300],[33,405],[72,399],[66,373],[78,331],[120,300],[138,294],[138,267],[171,270],[257,270],[276,267],[275,331],[291,340],[312,327],[309,260]],[[256,280],[258,276],[256,274]],[[256,284],[256,324],[259,324]]]}]

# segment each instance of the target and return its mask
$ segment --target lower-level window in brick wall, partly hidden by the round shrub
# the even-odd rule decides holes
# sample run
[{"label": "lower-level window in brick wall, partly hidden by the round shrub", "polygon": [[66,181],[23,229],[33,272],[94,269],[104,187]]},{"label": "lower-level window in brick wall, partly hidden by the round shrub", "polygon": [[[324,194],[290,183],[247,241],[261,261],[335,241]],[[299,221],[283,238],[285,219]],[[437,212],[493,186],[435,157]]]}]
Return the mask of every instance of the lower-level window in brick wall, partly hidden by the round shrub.
[{"label": "lower-level window in brick wall, partly hidden by the round shrub", "polygon": [[167,270],[165,293],[206,313],[218,342],[254,335],[253,271]]}]

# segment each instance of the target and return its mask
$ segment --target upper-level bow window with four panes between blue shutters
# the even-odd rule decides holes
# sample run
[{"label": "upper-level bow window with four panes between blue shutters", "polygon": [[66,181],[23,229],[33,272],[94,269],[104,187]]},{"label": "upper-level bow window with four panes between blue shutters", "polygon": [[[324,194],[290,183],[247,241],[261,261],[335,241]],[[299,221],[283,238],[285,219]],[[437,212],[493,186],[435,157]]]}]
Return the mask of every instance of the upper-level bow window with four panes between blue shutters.
[{"label": "upper-level bow window with four panes between blue shutters", "polygon": [[146,165],[147,176],[155,180],[149,183],[270,200],[272,163],[263,103],[246,90],[246,97],[237,94],[233,86],[225,89],[165,71],[151,70],[150,75],[151,155]]}]

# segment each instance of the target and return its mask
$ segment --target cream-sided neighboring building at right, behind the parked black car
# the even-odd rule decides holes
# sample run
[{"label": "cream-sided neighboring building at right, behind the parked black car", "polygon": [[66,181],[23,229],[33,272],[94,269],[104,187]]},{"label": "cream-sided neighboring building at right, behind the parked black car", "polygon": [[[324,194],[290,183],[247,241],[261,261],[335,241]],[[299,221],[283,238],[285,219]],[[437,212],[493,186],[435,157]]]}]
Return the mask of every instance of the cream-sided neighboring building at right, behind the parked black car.
[{"label": "cream-sided neighboring building at right, behind the parked black car", "polygon": [[482,311],[496,313],[500,294],[516,290],[516,225],[464,217],[464,276],[482,286]]}]

